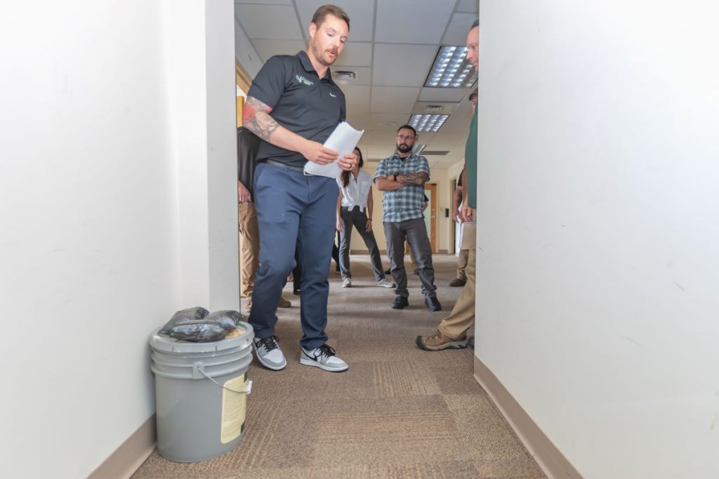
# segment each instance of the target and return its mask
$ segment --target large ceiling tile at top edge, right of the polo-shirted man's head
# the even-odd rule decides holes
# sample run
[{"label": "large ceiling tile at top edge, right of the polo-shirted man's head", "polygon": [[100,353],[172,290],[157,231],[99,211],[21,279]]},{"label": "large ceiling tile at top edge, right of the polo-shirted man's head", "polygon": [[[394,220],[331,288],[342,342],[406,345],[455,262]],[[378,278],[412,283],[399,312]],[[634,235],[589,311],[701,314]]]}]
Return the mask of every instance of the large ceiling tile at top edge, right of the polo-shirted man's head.
[{"label": "large ceiling tile at top edge, right of the polo-shirted man's head", "polygon": [[439,45],[453,1],[383,0],[377,2],[375,42]]}]

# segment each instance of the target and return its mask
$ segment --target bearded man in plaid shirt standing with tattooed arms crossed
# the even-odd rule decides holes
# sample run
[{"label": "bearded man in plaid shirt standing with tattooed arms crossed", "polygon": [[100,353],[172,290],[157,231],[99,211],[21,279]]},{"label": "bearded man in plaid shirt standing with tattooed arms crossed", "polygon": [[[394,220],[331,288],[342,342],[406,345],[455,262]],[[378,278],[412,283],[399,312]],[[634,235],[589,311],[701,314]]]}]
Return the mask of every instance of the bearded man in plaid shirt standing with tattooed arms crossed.
[{"label": "bearded man in plaid shirt standing with tattooed arms crossed", "polygon": [[425,157],[412,153],[417,132],[410,125],[397,130],[397,150],[383,159],[375,172],[377,189],[384,192],[382,221],[387,238],[387,256],[392,277],[397,284],[392,307],[401,310],[409,306],[407,273],[404,267],[404,242],[417,261],[417,274],[422,282],[424,302],[430,311],[442,309],[437,300],[432,267],[432,249],[424,225],[424,184],[429,180],[429,164]]}]

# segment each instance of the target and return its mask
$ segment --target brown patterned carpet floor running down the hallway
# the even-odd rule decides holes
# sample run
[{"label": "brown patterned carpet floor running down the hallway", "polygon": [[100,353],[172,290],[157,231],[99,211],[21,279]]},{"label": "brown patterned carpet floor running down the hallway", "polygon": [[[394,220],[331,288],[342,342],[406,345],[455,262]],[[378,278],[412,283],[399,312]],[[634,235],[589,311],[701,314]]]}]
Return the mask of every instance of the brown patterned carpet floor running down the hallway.
[{"label": "brown patterned carpet floor running down the hallway", "polygon": [[426,309],[414,275],[410,307],[391,310],[393,290],[375,286],[368,256],[352,256],[352,288],[331,272],[328,343],[349,363],[344,373],[300,365],[299,299],[290,284],[293,307],[279,310],[276,328],[288,366],[250,366],[255,387],[242,445],[194,464],[154,452],[133,477],[544,478],[472,377],[474,352],[414,344],[449,314],[461,289],[447,286],[454,256],[436,255],[434,264],[441,312]]}]

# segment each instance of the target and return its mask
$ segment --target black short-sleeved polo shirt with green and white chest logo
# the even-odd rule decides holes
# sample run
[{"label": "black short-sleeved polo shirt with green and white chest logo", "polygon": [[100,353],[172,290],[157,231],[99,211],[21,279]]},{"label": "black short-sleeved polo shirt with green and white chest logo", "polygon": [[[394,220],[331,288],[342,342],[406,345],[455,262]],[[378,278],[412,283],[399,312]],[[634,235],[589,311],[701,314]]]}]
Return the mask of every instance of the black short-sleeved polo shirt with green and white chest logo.
[{"label": "black short-sleeved polo shirt with green and white chest logo", "polygon": [[[247,96],[272,108],[270,115],[281,126],[303,138],[324,141],[346,116],[344,93],[332,80],[329,68],[320,79],[306,52],[276,55],[252,80]],[[273,159],[303,167],[307,160],[298,152],[260,142],[257,160]]]}]

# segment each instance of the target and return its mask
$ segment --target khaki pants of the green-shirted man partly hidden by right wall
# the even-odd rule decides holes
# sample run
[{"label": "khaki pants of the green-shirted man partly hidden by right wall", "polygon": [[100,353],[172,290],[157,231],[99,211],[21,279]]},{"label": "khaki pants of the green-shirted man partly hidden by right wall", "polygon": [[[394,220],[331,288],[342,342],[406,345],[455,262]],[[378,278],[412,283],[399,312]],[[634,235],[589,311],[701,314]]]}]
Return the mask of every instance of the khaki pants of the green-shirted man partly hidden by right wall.
[{"label": "khaki pants of the green-shirted man partly hidden by right wall", "polygon": [[[472,211],[474,218],[475,212]],[[464,337],[467,330],[475,324],[475,265],[477,264],[477,225],[464,224],[462,236],[462,249],[467,250],[467,283],[464,284],[459,298],[452,308],[452,312],[439,323],[437,329],[448,338],[459,339]]]}]

